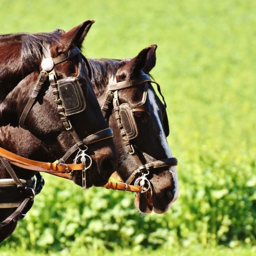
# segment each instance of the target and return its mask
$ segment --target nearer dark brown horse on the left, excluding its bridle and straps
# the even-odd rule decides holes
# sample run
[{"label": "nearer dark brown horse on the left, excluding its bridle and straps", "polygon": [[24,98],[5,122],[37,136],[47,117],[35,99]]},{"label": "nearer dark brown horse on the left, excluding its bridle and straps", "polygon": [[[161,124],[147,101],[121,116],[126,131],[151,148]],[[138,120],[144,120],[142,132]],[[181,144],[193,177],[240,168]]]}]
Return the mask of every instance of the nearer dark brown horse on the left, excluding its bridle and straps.
[{"label": "nearer dark brown horse on the left, excluding its bridle and straps", "polygon": [[[60,62],[56,61],[54,66],[55,77],[57,79],[78,77],[82,97],[86,104],[85,109],[64,121],[68,120],[72,124],[77,138],[81,139],[108,127],[92,90],[90,72],[84,62],[86,59],[79,57],[80,53],[76,51],[81,47],[92,24],[93,21],[88,20],[67,33],[58,31],[37,34],[20,33],[0,37],[1,126],[8,124],[13,127],[18,126],[19,118],[23,115],[32,92],[35,91],[35,84],[41,72],[42,42],[45,42],[49,46],[51,57],[55,60],[62,59]],[[24,135],[19,138],[15,137],[13,140],[11,137],[13,134],[9,130],[7,133],[1,134],[1,146],[13,153],[24,157],[29,155],[40,161],[60,159],[76,141],[68,131],[70,129],[65,129],[63,126],[63,119],[61,121],[58,116],[54,100],[48,80],[43,84],[25,119],[25,127],[35,139],[33,137],[26,138],[26,133],[28,133],[26,131]],[[40,146],[37,141],[40,142]],[[23,151],[20,148],[23,148]],[[40,152],[35,148],[40,148]],[[112,139],[105,139],[90,145],[87,154],[93,159],[92,167],[87,175],[87,187],[105,184],[114,172],[117,161]],[[33,176],[33,172],[25,172],[17,167],[13,168],[20,179],[28,179]],[[5,178],[8,179],[10,176],[0,164],[0,179]],[[81,173],[74,172],[73,180],[81,185]],[[13,208],[1,209],[0,222],[7,218],[13,210]],[[8,237],[15,226],[16,222],[2,229],[0,241]]]}]

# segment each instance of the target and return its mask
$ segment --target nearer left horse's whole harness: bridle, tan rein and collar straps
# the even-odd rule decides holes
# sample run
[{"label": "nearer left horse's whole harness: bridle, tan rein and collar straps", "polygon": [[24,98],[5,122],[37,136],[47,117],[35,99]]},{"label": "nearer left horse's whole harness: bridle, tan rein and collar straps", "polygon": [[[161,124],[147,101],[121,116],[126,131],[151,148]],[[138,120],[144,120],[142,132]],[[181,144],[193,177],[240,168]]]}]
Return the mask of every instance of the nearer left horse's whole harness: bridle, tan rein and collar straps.
[{"label": "nearer left horse's whole harness: bridle, tan rein and collar straps", "polygon": [[[54,102],[57,104],[57,110],[61,116],[60,119],[63,122],[65,129],[72,135],[75,144],[62,158],[54,163],[39,162],[23,158],[0,147],[0,162],[2,162],[3,166],[11,176],[11,179],[0,179],[0,208],[17,207],[13,214],[0,223],[0,230],[12,221],[18,221],[24,218],[28,210],[32,207],[35,195],[40,193],[45,183],[39,172],[46,172],[70,179],[74,171],[81,170],[82,187],[86,188],[86,170],[92,165],[92,158],[86,154],[88,146],[98,141],[113,137],[113,131],[111,128],[91,134],[83,139],[79,137],[69,120],[69,116],[80,113],[86,109],[86,100],[82,94],[81,84],[79,82],[82,78],[82,72],[85,70],[84,66],[87,65],[87,61],[84,61],[86,58],[81,56],[81,51],[78,48],[52,58],[49,48],[50,45],[43,42],[42,70],[39,74],[32,95],[20,116],[19,126],[26,129],[26,118],[33,108],[42,86],[44,86],[49,79],[55,97]],[[77,77],[58,79],[54,71],[54,66],[58,63],[69,60],[76,55],[78,55],[79,60],[79,73]],[[86,65],[83,65],[83,61],[86,62]],[[87,67],[89,68],[90,66],[87,65]],[[88,71],[86,70],[86,72]],[[86,82],[90,83],[91,81],[88,77],[89,75],[86,75],[83,79],[87,79]],[[69,95],[72,97],[69,97]],[[73,164],[66,163],[67,159],[76,151],[78,151],[78,153]],[[28,180],[19,179],[11,165],[36,172],[36,183],[34,177]]]}]

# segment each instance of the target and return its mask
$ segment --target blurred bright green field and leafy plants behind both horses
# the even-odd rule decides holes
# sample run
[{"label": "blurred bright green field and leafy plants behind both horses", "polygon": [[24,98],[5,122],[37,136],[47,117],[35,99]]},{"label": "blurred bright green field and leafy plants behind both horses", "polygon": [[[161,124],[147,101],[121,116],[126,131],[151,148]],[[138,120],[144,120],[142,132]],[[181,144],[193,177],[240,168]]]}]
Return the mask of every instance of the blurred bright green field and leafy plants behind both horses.
[{"label": "blurred bright green field and leafy plants behind both horses", "polygon": [[[91,58],[130,58],[157,44],[152,71],[167,100],[180,197],[141,216],[134,195],[46,177],[0,254],[253,255],[256,2],[1,0],[0,33],[69,30],[95,19]],[[111,251],[111,252],[110,252]]]}]

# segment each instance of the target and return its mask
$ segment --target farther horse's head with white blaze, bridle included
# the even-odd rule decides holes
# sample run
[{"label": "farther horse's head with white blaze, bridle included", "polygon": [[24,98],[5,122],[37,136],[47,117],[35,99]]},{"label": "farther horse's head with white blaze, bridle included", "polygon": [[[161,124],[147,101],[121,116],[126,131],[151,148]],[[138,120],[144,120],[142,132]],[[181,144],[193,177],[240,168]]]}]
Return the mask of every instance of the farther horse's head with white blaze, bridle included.
[{"label": "farther horse's head with white blaze, bridle included", "polygon": [[179,195],[177,159],[166,139],[166,103],[159,84],[164,103],[149,76],[156,65],[156,49],[157,45],[144,48],[132,59],[89,59],[94,91],[115,135],[117,173],[127,185],[145,185],[135,199],[145,214],[163,214]]}]

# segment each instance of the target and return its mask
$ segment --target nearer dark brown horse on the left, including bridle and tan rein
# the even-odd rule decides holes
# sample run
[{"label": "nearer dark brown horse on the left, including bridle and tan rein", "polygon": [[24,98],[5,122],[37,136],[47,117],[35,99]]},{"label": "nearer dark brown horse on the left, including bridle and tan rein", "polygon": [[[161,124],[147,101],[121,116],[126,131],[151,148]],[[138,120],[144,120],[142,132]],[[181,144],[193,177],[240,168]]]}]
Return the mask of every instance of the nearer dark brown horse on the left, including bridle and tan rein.
[{"label": "nearer dark brown horse on the left, including bridle and tan rein", "polygon": [[[93,20],[87,20],[66,33],[0,36],[0,124],[23,127],[35,138],[11,141],[10,134],[6,140],[1,134],[1,145],[5,149],[0,148],[0,179],[16,183],[15,189],[22,193],[28,194],[29,191],[30,196],[26,199],[29,199],[30,207],[35,191],[26,184],[26,180],[31,181],[34,170],[54,171],[60,176],[63,172],[72,173],[75,183],[88,188],[105,184],[116,168],[113,132],[105,122],[92,90],[88,61],[79,50],[93,23]],[[41,165],[32,166],[26,159],[14,155],[15,152],[7,151],[20,147],[33,150],[37,140],[45,151],[33,153],[32,158],[45,161],[59,159],[57,163],[34,161]],[[78,162],[66,163],[77,151]],[[63,155],[66,161],[63,161]],[[25,172],[20,166],[33,172]],[[89,167],[90,172],[86,172]],[[18,208],[12,205],[0,210],[0,241],[14,230],[17,219],[7,217]],[[26,212],[18,214],[23,218]],[[2,225],[6,218],[8,223]]]}]

